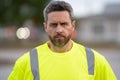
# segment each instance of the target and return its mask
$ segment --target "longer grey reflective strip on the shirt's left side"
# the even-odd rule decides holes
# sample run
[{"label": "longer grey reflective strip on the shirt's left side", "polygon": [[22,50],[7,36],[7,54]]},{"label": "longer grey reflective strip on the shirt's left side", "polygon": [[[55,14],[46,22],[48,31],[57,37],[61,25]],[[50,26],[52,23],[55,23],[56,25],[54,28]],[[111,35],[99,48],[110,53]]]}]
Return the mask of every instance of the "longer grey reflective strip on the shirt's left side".
[{"label": "longer grey reflective strip on the shirt's left side", "polygon": [[30,61],[34,80],[39,80],[38,55],[36,49],[30,51]]}]

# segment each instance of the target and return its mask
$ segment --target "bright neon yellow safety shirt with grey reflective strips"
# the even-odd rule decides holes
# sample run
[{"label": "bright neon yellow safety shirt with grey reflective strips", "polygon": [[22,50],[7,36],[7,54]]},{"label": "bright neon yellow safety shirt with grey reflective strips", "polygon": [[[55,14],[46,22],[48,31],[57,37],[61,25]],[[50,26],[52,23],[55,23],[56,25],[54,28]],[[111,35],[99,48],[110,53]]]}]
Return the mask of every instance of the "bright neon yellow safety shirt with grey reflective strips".
[{"label": "bright neon yellow safety shirt with grey reflective strips", "polygon": [[8,80],[117,80],[109,63],[93,49],[73,42],[70,51],[53,52],[48,44],[20,57]]}]

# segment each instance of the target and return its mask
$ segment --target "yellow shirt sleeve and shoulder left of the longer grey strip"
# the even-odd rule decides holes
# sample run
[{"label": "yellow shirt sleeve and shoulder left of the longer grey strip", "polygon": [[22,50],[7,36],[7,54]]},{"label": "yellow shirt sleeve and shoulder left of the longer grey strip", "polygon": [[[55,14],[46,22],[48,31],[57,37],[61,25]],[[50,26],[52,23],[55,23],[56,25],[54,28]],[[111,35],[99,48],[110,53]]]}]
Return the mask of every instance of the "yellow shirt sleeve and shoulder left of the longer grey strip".
[{"label": "yellow shirt sleeve and shoulder left of the longer grey strip", "polygon": [[23,76],[31,77],[31,75],[32,73],[31,73],[31,68],[30,68],[29,52],[27,52],[27,53],[24,53],[21,57],[19,57],[16,60],[14,68],[9,76],[9,80],[13,80],[13,79],[24,80]]}]

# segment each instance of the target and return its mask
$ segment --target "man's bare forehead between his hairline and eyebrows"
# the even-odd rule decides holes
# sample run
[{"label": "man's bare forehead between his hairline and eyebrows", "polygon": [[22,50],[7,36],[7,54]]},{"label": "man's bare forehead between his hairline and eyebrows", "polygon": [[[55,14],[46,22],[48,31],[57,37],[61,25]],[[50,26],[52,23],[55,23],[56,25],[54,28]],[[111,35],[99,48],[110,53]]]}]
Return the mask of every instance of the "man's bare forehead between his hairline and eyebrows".
[{"label": "man's bare forehead between his hairline and eyebrows", "polygon": [[70,15],[67,11],[54,11],[48,14],[48,21],[71,21]]}]

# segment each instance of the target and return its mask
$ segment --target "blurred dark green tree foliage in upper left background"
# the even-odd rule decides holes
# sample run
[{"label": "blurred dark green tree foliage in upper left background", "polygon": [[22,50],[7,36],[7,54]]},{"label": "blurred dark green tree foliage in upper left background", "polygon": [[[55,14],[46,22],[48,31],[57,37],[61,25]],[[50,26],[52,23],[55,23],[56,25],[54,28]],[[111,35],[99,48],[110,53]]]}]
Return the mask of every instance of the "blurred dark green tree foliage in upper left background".
[{"label": "blurred dark green tree foliage in upper left background", "polygon": [[22,25],[32,19],[43,23],[43,9],[50,0],[0,0],[0,25]]}]

